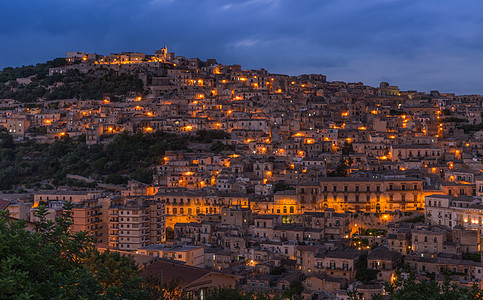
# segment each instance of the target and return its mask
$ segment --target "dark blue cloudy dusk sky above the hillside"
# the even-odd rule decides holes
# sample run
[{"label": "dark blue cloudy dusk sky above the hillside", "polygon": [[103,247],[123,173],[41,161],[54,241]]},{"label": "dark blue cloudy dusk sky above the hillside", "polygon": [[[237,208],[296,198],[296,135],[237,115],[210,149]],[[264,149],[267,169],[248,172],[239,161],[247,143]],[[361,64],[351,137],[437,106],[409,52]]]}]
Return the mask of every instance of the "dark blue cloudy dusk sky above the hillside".
[{"label": "dark blue cloudy dusk sky above the hillside", "polygon": [[3,0],[0,68],[168,51],[274,73],[483,94],[481,0]]}]

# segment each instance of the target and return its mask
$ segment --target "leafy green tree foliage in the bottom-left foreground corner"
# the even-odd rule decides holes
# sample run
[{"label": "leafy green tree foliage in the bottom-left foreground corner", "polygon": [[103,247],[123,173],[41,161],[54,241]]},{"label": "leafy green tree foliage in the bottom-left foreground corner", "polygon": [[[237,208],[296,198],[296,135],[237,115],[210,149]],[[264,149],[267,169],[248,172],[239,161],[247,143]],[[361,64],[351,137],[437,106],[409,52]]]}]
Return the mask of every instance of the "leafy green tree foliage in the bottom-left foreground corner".
[{"label": "leafy green tree foliage in the bottom-left foreground corner", "polygon": [[39,206],[36,230],[0,212],[0,299],[143,299],[135,263],[99,253],[86,232],[72,233],[72,204],[56,222]]}]

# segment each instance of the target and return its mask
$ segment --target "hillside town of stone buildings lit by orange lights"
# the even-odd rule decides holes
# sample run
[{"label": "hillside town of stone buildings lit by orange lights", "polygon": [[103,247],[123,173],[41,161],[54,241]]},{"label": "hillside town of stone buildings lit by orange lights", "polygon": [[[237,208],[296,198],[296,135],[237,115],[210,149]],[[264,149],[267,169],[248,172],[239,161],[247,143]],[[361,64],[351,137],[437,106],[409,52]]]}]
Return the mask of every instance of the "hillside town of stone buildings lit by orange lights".
[{"label": "hillside town of stone buildings lit by orange lights", "polygon": [[91,186],[19,184],[0,194],[10,218],[33,227],[39,206],[55,221],[72,202],[72,232],[150,276],[181,276],[192,299],[221,285],[282,294],[294,282],[303,299],[371,299],[410,272],[483,287],[483,96],[244,70],[166,47],[67,52],[47,77],[106,70],[135,75],[143,92],[0,99],[0,124],[19,144],[221,138],[157,153],[151,182],[68,174]]}]

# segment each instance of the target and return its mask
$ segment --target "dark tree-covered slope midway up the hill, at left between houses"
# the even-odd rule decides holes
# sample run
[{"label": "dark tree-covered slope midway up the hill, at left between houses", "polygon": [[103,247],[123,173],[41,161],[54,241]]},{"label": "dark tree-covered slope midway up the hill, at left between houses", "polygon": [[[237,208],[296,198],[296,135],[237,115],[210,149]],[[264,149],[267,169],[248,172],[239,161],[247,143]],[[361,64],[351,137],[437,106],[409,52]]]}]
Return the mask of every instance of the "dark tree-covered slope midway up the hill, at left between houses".
[{"label": "dark tree-covered slope midway up the hill, at left between houses", "polygon": [[152,182],[153,165],[166,150],[186,149],[187,137],[166,132],[123,133],[107,145],[88,146],[79,140],[62,138],[53,144],[14,143],[0,132],[0,189],[18,184],[35,184],[53,179],[66,184],[67,174],[102,178],[122,184],[128,179]]}]

